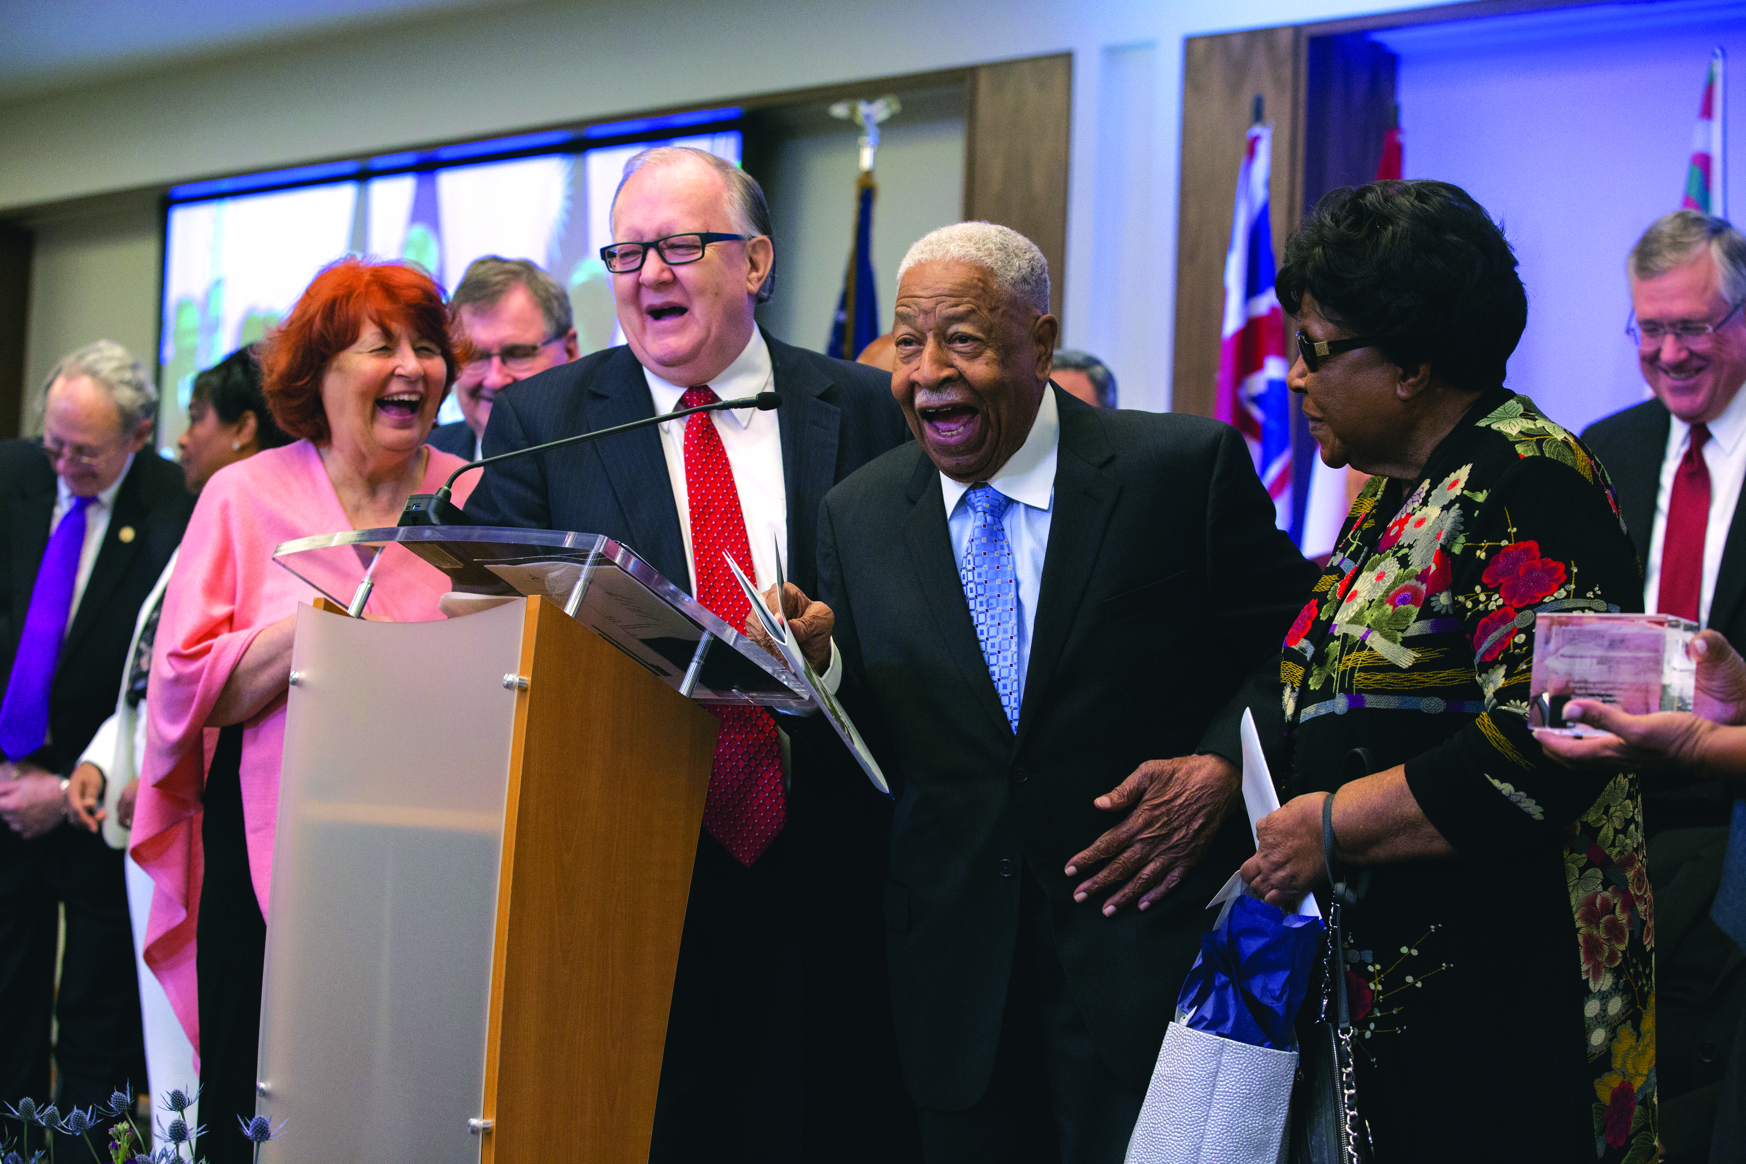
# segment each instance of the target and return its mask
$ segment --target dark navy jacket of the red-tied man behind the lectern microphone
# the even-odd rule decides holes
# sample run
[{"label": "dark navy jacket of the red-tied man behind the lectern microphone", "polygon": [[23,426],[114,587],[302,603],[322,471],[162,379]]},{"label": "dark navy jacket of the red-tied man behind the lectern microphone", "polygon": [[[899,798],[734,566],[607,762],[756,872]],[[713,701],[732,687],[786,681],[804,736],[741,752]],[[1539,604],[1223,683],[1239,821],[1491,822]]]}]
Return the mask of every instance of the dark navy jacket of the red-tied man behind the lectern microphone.
[{"label": "dark navy jacket of the red-tied man behind the lectern microphone", "polygon": [[[819,503],[910,429],[885,372],[789,347],[768,333],[765,342],[782,394],[777,428],[787,489],[787,578],[817,593]],[[546,368],[498,396],[485,424],[485,455],[651,415],[655,398],[643,365],[630,347],[609,347]],[[473,522],[606,534],[672,585],[691,588],[656,426],[480,471],[484,480],[466,503]]]}]

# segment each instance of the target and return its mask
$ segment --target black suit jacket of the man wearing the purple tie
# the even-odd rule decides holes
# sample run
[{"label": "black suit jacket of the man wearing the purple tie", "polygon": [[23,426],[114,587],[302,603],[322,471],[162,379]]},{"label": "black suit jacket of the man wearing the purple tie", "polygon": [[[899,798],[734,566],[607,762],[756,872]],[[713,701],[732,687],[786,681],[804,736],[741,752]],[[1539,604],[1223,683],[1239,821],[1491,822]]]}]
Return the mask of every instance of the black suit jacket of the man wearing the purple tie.
[{"label": "black suit jacket of the man wearing the purple tie", "polygon": [[[0,442],[0,689],[24,630],[37,567],[49,544],[54,469],[35,440]],[[115,492],[108,532],[79,599],[49,689],[49,745],[33,761],[66,775],[115,710],[140,604],[182,543],[194,494],[182,469],[145,448]],[[122,531],[127,539],[122,539]]]}]

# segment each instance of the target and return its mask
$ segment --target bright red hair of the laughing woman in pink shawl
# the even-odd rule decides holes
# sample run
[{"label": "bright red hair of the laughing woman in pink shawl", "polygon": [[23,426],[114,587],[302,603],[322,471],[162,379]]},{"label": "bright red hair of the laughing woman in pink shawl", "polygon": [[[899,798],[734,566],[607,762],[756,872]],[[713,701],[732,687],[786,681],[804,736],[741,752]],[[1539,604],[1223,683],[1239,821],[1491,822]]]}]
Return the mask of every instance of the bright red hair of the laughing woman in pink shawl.
[{"label": "bright red hair of the laughing woman in pink shawl", "polygon": [[435,279],[409,264],[346,257],[311,279],[292,314],[260,344],[262,391],[281,429],[318,445],[332,438],[321,377],[333,356],[358,342],[365,323],[384,332],[403,326],[436,344],[449,368],[443,391],[454,384],[461,353]]}]

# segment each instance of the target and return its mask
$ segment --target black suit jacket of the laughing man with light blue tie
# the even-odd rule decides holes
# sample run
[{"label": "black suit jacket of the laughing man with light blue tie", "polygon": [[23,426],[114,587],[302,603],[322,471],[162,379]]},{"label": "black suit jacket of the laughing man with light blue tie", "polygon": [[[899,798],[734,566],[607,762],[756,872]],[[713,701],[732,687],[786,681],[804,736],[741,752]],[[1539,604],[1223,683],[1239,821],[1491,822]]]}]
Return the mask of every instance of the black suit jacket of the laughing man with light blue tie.
[{"label": "black suit jacket of the laughing man with light blue tie", "polygon": [[[1227,735],[1226,710],[1316,571],[1273,525],[1236,429],[1091,408],[1051,389],[1055,511],[1018,733],[983,663],[939,473],[896,448],[831,490],[819,585],[845,702],[896,778],[887,946],[897,1045],[924,1108],[986,1087],[1025,862],[1103,1061],[1145,1091],[1206,900],[1254,852],[1233,811],[1212,852],[1147,911],[1076,904],[1062,869],[1119,817],[1093,806],[1147,759]],[[1276,700],[1276,689],[1273,698]],[[1240,709],[1236,709],[1240,714]],[[1217,722],[1215,722],[1217,721]],[[1229,740],[1219,740],[1224,752]]]}]

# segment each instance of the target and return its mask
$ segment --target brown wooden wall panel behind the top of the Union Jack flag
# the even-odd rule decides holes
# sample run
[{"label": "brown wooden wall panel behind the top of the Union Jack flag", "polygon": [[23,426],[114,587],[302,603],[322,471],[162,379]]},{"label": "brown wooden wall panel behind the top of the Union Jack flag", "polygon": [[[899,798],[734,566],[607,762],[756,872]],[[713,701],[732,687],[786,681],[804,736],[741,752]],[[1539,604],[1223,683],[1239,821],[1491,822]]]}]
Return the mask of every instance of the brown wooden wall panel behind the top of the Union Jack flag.
[{"label": "brown wooden wall panel behind the top of the Union Jack flag", "polygon": [[1255,94],[1273,122],[1273,250],[1303,216],[1304,38],[1297,28],[1189,37],[1182,45],[1182,183],[1172,408],[1213,415],[1224,253]]}]

